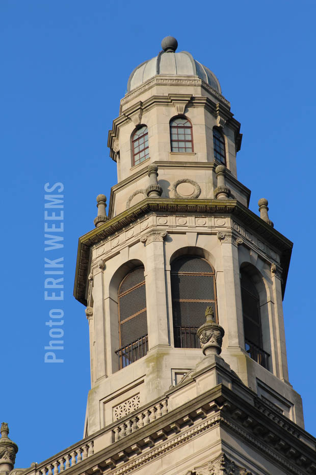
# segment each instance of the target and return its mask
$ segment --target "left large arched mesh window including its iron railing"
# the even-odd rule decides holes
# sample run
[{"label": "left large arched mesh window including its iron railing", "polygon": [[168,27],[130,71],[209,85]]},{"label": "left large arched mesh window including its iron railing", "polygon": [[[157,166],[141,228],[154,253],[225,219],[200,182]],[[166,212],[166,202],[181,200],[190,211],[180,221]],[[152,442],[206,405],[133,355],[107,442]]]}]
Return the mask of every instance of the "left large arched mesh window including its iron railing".
[{"label": "left large arched mesh window including its iron railing", "polygon": [[144,267],[130,271],[118,291],[119,367],[139,360],[147,353],[148,329]]}]

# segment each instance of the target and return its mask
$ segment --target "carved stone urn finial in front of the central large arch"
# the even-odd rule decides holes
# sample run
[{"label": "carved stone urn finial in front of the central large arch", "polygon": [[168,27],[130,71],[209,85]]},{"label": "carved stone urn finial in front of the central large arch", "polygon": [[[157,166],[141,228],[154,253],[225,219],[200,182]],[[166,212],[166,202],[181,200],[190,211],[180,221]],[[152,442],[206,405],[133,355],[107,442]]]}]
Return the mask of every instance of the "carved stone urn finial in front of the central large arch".
[{"label": "carved stone urn finial in front of the central large arch", "polygon": [[205,311],[206,322],[197,330],[197,336],[203,349],[203,354],[220,354],[225,334],[224,328],[216,323],[214,310],[208,306]]}]

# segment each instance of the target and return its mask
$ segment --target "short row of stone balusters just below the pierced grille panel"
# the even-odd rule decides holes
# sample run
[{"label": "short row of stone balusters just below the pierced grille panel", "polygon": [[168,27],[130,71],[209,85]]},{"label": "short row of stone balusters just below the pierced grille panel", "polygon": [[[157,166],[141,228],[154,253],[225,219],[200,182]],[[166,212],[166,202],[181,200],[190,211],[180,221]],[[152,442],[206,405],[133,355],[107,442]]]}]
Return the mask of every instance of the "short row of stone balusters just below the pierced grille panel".
[{"label": "short row of stone balusters just below the pierced grille panel", "polygon": [[113,429],[114,442],[123,439],[124,437],[132,434],[138,429],[141,429],[150,422],[168,414],[168,399],[163,399],[154,406],[149,407],[143,412],[139,412],[133,417],[124,420],[124,422],[118,424]]}]

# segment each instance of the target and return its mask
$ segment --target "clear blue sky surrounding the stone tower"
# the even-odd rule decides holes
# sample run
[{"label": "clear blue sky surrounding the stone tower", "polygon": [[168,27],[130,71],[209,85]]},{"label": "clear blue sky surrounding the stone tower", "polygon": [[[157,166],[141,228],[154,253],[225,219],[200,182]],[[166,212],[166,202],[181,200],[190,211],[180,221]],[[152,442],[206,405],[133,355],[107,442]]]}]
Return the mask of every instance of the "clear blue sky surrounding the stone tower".
[{"label": "clear blue sky surrounding the stone tower", "polygon": [[[110,196],[108,130],[130,72],[166,35],[221,82],[244,134],[239,179],[250,208],[294,242],[284,299],[289,379],[314,411],[314,1],[141,3],[1,0],[2,391],[1,421],[28,467],[80,440],[90,385],[88,324],[72,297],[78,236],[95,198]],[[44,184],[65,196],[65,349],[44,364]],[[310,251],[311,249],[311,251]]]}]

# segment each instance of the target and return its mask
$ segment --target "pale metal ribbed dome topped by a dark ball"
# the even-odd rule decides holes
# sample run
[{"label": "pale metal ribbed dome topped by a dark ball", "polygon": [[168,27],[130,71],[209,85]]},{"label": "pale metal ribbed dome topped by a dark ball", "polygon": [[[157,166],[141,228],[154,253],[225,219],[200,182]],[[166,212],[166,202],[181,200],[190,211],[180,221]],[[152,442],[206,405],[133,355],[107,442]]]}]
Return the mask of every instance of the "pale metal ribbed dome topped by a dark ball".
[{"label": "pale metal ribbed dome topped by a dark ball", "polygon": [[166,36],[162,43],[163,51],[137,66],[129,76],[127,92],[139,87],[157,74],[172,76],[198,76],[204,82],[221,93],[220,83],[208,67],[196,61],[187,51],[175,53],[178,42],[172,36]]}]

